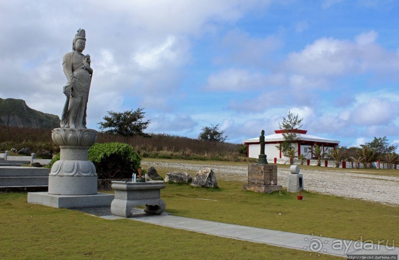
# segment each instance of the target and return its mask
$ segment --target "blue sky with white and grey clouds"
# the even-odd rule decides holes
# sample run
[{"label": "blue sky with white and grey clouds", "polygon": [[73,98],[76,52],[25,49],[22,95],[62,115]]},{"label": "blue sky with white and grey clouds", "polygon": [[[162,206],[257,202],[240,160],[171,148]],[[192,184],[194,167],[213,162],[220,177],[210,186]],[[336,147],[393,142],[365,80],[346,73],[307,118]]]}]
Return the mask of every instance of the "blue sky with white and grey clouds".
[{"label": "blue sky with white and grey clouds", "polygon": [[142,107],[147,132],[230,142],[288,111],[309,134],[399,144],[399,1],[0,1],[0,97],[61,115],[79,28],[94,70],[88,127]]}]

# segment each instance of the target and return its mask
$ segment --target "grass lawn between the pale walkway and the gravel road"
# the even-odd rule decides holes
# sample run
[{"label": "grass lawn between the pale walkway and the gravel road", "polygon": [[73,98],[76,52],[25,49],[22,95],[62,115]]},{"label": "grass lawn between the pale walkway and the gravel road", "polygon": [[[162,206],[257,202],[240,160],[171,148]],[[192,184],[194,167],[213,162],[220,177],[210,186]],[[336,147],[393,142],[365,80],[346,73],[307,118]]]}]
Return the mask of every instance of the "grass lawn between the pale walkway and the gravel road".
[{"label": "grass lawn between the pale walkway and the gravel road", "polygon": [[[161,176],[176,171],[156,169]],[[218,184],[220,189],[167,183],[162,198],[168,212],[182,217],[350,240],[389,239],[389,245],[399,241],[399,207],[307,191],[299,201],[296,193],[286,191],[244,191],[244,182],[218,180]]]}]

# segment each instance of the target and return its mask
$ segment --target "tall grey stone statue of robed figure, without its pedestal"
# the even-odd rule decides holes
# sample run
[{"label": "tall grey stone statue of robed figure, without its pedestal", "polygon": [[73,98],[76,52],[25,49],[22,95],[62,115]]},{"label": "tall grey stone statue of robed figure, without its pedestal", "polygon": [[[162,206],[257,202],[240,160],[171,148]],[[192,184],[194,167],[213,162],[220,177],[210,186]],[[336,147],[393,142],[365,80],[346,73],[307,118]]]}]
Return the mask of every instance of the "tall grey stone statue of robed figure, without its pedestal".
[{"label": "tall grey stone statue of robed figure, without its pedestal", "polygon": [[62,59],[67,83],[63,92],[67,96],[61,116],[61,128],[86,128],[86,110],[93,70],[90,55],[82,51],[86,46],[86,32],[79,29],[72,42],[73,51]]}]

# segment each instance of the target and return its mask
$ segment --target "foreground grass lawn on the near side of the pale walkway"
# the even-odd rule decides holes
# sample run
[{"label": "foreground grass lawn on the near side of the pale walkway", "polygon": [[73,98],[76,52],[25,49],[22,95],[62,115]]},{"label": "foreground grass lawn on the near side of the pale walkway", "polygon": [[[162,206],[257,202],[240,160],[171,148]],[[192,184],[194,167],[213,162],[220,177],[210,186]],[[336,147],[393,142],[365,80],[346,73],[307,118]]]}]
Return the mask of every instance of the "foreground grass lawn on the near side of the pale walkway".
[{"label": "foreground grass lawn on the near side of the pale walkway", "polygon": [[[175,193],[176,188],[167,189]],[[106,220],[27,204],[26,198],[26,193],[0,194],[0,259],[338,259],[128,219]]]}]

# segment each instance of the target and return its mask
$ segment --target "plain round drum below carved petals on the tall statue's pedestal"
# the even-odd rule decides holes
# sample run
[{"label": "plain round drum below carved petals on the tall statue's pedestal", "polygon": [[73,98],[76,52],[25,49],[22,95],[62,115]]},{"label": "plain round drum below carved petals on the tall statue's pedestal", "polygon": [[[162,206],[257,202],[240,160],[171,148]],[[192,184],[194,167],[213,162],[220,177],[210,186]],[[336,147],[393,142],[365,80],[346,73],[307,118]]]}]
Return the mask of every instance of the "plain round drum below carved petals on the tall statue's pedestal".
[{"label": "plain round drum below carved petals on the tall statue's pedestal", "polygon": [[97,193],[97,176],[48,176],[48,193],[92,195]]}]

